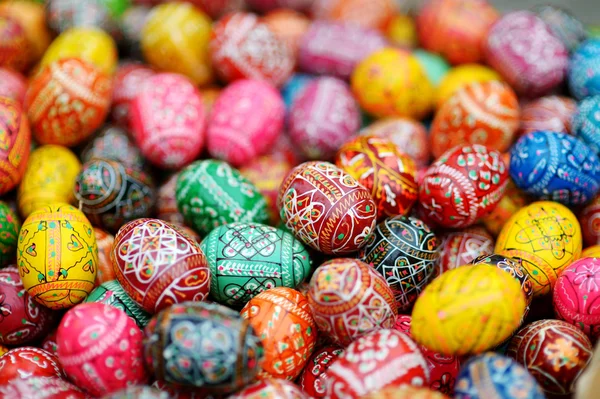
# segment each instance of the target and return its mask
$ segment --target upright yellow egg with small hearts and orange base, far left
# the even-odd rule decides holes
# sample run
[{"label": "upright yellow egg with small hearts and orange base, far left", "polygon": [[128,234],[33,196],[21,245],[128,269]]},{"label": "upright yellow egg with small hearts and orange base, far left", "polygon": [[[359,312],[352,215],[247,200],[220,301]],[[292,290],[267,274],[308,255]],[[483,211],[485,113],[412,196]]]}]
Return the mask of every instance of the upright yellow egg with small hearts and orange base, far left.
[{"label": "upright yellow egg with small hearts and orange base, far left", "polygon": [[74,206],[45,206],[23,223],[17,266],[23,286],[40,304],[64,309],[82,302],[94,288],[97,265],[94,230]]}]

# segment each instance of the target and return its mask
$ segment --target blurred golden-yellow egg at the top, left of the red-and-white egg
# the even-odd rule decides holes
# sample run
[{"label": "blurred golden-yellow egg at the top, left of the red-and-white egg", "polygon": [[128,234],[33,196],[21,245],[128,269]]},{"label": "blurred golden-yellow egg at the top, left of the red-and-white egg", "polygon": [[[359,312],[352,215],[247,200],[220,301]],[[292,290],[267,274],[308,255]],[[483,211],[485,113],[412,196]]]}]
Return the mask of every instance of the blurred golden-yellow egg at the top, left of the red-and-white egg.
[{"label": "blurred golden-yellow egg at the top, left of the red-and-white egg", "polygon": [[148,63],[187,76],[195,85],[210,83],[208,47],[211,20],[191,4],[165,3],[152,9],[143,25],[141,47]]}]

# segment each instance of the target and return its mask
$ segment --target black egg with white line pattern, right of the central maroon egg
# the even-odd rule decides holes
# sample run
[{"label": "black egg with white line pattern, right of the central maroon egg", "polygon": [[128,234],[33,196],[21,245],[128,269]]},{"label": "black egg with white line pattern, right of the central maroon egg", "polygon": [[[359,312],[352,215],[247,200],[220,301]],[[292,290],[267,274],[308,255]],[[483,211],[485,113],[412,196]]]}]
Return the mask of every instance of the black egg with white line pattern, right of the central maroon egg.
[{"label": "black egg with white line pattern, right of the central maroon egg", "polygon": [[383,276],[405,311],[431,281],[439,254],[439,241],[425,223],[397,216],[375,227],[358,256]]}]

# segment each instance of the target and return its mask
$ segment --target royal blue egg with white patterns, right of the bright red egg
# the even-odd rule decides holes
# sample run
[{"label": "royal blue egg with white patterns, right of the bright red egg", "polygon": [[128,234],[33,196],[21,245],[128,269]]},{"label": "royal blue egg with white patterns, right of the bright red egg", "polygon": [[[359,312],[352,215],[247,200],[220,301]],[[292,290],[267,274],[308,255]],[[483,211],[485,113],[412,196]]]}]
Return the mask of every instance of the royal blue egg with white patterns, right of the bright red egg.
[{"label": "royal blue egg with white patterns, right of the bright red egg", "polygon": [[510,151],[510,176],[521,190],[544,200],[580,205],[600,190],[600,159],[580,139],[533,132]]}]

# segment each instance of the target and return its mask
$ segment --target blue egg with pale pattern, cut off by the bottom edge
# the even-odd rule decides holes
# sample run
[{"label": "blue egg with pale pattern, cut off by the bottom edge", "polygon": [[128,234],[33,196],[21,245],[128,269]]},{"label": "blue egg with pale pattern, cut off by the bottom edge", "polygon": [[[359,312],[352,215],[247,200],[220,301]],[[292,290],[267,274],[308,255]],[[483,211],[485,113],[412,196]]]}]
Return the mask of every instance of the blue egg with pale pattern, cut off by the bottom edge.
[{"label": "blue egg with pale pattern, cut off by the bottom edge", "polygon": [[511,358],[488,352],[475,356],[461,368],[454,399],[544,399],[535,378]]}]

